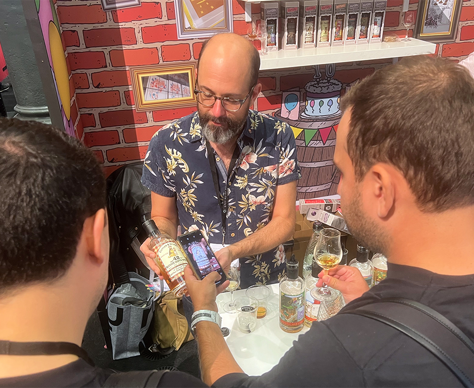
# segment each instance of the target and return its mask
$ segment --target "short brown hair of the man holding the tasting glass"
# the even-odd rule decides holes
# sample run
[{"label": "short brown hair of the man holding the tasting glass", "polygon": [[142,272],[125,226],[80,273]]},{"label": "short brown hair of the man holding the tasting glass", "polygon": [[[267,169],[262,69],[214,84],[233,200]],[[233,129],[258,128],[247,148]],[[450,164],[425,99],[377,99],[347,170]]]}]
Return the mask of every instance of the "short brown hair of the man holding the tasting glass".
[{"label": "short brown hair of the man holding the tasting glass", "polygon": [[408,57],[342,98],[351,109],[347,151],[361,180],[390,163],[423,211],[474,204],[474,79],[441,58]]}]

